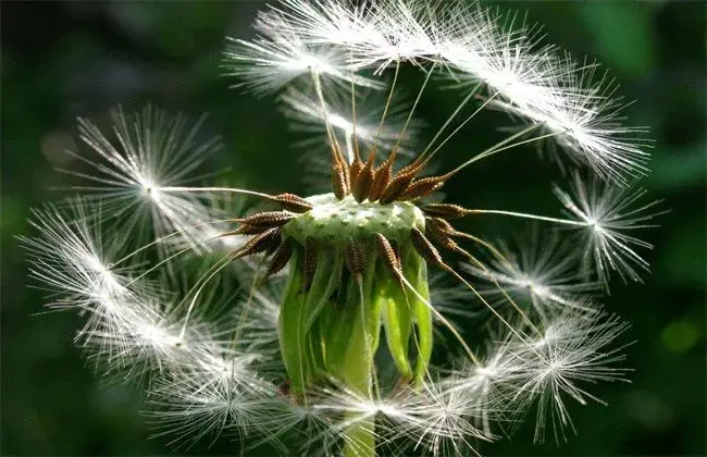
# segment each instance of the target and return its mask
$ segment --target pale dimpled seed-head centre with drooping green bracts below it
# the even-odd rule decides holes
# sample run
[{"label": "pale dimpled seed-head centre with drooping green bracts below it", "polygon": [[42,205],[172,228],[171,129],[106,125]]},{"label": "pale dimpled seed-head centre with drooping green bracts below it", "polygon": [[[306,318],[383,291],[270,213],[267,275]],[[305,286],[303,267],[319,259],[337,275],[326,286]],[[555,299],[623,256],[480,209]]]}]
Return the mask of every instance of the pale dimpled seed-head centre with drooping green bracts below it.
[{"label": "pale dimpled seed-head centre with drooping green bracts below it", "polygon": [[[400,376],[420,382],[432,351],[432,313],[427,267],[410,232],[424,230],[422,211],[409,202],[358,203],[333,194],[308,200],[314,208],[283,227],[295,246],[280,312],[293,392],[336,379],[370,394],[381,326]],[[376,235],[396,244],[404,280],[388,267]],[[346,268],[351,242],[364,258],[360,274]]]}]

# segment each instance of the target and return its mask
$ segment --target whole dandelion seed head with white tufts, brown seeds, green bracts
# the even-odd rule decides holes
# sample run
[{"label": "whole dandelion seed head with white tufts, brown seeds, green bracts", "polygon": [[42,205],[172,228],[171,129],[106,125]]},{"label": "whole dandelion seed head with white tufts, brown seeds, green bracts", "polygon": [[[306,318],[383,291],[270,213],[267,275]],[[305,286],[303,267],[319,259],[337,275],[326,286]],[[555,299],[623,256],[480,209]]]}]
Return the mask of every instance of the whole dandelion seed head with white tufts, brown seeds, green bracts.
[{"label": "whole dandelion seed head with white tufts, brown seeds, green bracts", "polygon": [[[479,454],[532,409],[536,441],[550,427],[566,439],[567,400],[600,402],[587,384],[624,380],[612,345],[627,325],[597,301],[609,271],[647,270],[635,231],[657,215],[627,186],[647,143],[620,125],[607,79],[517,15],[461,1],[284,0],[256,30],[230,39],[224,69],[280,91],[307,149],[326,151],[307,163],[327,192],[204,183],[218,141],[199,146],[200,123],[152,108],[113,111],[110,129],[80,119],[88,150],[72,153],[88,170],[70,173],[85,196],[36,211],[37,235],[21,238],[49,306],[86,317],[77,344],[141,382],[175,445],[225,434],[283,454]],[[402,65],[421,72],[410,104]],[[418,107],[441,82],[460,101],[421,141]],[[436,171],[487,109],[529,125]],[[441,201],[475,162],[548,141],[585,169],[555,188],[565,218]],[[454,226],[482,217],[536,225],[518,246]]]}]

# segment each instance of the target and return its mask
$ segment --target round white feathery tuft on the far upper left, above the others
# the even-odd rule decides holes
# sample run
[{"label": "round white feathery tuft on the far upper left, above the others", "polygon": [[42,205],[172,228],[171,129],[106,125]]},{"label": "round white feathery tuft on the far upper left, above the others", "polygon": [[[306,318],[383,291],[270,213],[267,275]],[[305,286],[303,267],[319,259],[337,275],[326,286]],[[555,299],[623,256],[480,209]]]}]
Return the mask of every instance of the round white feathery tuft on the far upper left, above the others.
[{"label": "round white feathery tuft on the far upper left, above the others", "polygon": [[[203,165],[221,148],[219,138],[201,143],[201,119],[190,129],[181,115],[172,116],[152,107],[126,114],[121,107],[110,112],[109,132],[78,120],[79,137],[90,153],[69,152],[89,166],[87,172],[65,170],[87,184],[73,189],[84,199],[99,201],[116,221],[124,237],[152,226],[156,236],[179,232],[193,247],[203,231],[189,225],[215,219],[200,196],[179,186],[209,176]],[[201,172],[200,172],[201,170]]]}]

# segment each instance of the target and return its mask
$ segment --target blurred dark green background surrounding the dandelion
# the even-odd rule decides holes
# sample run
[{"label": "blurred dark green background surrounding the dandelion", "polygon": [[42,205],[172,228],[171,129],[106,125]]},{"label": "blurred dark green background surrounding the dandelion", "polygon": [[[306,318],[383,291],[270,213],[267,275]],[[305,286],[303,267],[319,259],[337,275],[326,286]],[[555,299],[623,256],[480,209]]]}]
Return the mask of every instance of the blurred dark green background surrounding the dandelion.
[{"label": "blurred dark green background surrounding the dandelion", "polygon": [[[248,2],[2,3],[2,455],[225,455],[227,439],[170,450],[150,439],[139,392],[106,385],[72,345],[72,313],[35,316],[42,294],[28,287],[27,265],[13,236],[28,232],[32,207],[57,200],[70,178],[54,170],[76,163],[77,115],[102,119],[116,103],[146,102],[209,112],[208,131],[223,135],[232,180],[263,190],[299,192],[296,137],[272,98],[227,88],[220,76],[224,36],[250,36],[262,5]],[[548,41],[597,59],[637,100],[631,123],[652,126],[653,172],[643,184],[670,213],[645,234],[656,245],[644,286],[615,282],[607,308],[628,320],[631,384],[599,385],[609,407],[572,405],[579,431],[567,444],[532,445],[532,427],[485,455],[705,455],[705,13],[706,3],[678,1],[533,1],[504,3],[545,25]],[[419,74],[405,72],[415,92]],[[438,125],[458,92],[429,91],[419,114]],[[439,155],[444,166],[501,134],[504,116],[481,116]],[[504,124],[505,123],[505,124]],[[489,133],[491,132],[491,133]],[[275,164],[273,166],[273,164]],[[298,172],[293,172],[297,170]],[[301,173],[300,173],[301,172]],[[450,200],[480,208],[557,214],[550,182],[556,166],[529,148],[480,163],[447,189]],[[521,228],[489,220],[468,230]]]}]

